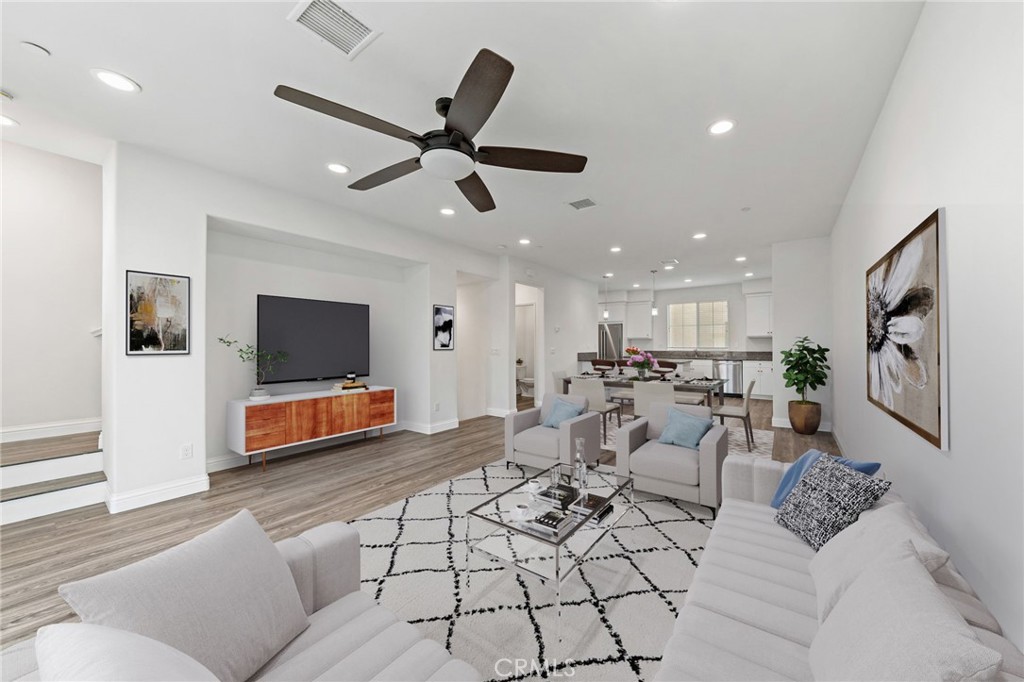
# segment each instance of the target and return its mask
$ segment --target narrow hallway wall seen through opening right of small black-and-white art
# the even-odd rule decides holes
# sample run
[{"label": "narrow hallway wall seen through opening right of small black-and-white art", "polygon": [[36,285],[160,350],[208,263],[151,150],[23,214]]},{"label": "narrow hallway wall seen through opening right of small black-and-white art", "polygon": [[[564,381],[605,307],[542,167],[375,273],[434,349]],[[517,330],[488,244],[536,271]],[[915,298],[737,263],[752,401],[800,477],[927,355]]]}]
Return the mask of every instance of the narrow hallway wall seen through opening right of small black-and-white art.
[{"label": "narrow hallway wall seen through opening right of small black-and-white art", "polygon": [[494,282],[459,285],[456,289],[455,352],[459,371],[459,421],[487,414],[487,307]]}]

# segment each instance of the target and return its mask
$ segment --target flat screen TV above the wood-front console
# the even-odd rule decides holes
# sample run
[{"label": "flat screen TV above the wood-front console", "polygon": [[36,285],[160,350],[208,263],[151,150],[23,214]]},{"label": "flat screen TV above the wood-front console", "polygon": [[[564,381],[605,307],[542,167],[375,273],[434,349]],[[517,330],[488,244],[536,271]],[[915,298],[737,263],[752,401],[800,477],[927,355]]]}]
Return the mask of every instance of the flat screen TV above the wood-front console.
[{"label": "flat screen TV above the wood-front console", "polygon": [[266,384],[370,375],[370,306],[256,296],[256,347],[284,350]]}]

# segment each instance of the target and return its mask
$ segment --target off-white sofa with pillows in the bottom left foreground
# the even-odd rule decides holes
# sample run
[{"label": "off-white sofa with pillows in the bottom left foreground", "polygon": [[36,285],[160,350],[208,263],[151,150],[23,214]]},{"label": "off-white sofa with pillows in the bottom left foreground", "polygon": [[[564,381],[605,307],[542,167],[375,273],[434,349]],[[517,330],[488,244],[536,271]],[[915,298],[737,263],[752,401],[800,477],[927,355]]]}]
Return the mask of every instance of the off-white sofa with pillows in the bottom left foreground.
[{"label": "off-white sofa with pillows in the bottom left foreground", "polygon": [[[226,534],[225,526],[231,526]],[[244,511],[162,554],[72,584],[82,587],[61,586],[76,610],[92,611],[91,623],[105,623],[40,629],[37,638],[4,649],[2,679],[39,680],[40,669],[44,678],[75,680],[480,679],[469,664],[359,590],[359,538],[351,526],[327,523],[276,545],[260,535]],[[254,544],[263,547],[250,551]],[[282,586],[282,580],[288,584]],[[140,590],[147,581],[148,589]],[[167,609],[136,611],[127,624],[112,623],[112,611],[132,607],[119,601],[122,589],[134,591],[129,602],[162,603]],[[211,624],[211,617],[219,622]],[[255,646],[254,640],[270,639],[281,621],[296,619],[299,632],[279,638],[283,646]],[[228,627],[234,632],[225,632]],[[251,632],[244,632],[247,628]],[[47,654],[56,659],[43,662]],[[184,668],[178,667],[182,659]]]}]

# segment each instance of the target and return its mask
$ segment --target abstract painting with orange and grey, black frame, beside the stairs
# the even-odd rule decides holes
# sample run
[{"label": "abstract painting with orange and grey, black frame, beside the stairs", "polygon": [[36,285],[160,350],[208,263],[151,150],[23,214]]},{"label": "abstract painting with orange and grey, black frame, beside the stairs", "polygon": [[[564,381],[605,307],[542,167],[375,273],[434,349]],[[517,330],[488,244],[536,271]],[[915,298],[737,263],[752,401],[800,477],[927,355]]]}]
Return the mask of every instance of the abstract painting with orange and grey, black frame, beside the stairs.
[{"label": "abstract painting with orange and grey, black frame, beside the stairs", "polygon": [[128,355],[187,355],[188,278],[127,270]]}]

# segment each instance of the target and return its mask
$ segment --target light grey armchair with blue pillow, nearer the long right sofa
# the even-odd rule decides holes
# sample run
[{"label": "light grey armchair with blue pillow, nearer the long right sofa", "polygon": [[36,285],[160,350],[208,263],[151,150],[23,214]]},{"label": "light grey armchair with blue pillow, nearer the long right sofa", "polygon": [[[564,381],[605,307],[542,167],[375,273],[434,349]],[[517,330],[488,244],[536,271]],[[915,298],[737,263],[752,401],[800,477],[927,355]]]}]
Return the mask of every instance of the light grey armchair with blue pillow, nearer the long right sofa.
[{"label": "light grey armchair with blue pillow, nearer the long right sofa", "polygon": [[729,432],[712,426],[698,450],[658,442],[669,423],[669,411],[678,410],[711,419],[711,408],[654,402],[650,414],[625,425],[615,436],[615,469],[632,476],[638,491],[694,502],[717,513],[722,504],[722,463],[729,454]]}]

